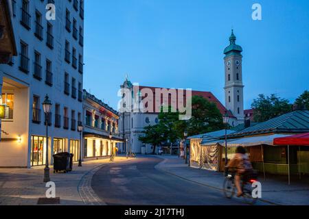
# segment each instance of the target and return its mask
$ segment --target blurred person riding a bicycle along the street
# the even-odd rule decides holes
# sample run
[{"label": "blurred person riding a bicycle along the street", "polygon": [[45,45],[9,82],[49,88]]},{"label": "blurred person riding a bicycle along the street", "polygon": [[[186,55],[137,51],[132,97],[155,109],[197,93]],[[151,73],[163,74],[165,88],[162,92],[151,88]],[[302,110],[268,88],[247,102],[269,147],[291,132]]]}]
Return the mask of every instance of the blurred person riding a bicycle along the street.
[{"label": "blurred person riding a bicycle along the street", "polygon": [[236,149],[236,155],[229,161],[227,164],[227,168],[235,168],[236,175],[234,178],[234,183],[237,188],[237,196],[242,196],[242,188],[240,186],[240,179],[245,175],[249,175],[252,172],[253,168],[251,162],[249,161],[249,157],[246,154],[246,149],[243,146],[238,146]]}]

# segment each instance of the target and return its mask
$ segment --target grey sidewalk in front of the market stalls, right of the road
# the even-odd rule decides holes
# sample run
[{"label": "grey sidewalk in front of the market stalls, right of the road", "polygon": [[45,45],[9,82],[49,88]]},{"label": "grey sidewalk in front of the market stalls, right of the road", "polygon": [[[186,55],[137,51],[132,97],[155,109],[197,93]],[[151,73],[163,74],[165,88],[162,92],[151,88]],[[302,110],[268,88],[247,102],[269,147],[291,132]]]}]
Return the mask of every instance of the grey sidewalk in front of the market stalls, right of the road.
[{"label": "grey sidewalk in front of the market stalls, right of the road", "polygon": [[[183,159],[172,156],[157,156],[163,158],[164,161],[156,166],[159,170],[163,170],[177,177],[194,181],[211,188],[222,190],[223,181],[225,179],[222,172],[214,172],[209,170],[201,170],[189,168]],[[309,205],[309,179],[308,177],[299,181],[298,176],[291,179],[288,185],[287,176],[276,176],[266,174],[259,177],[262,183],[262,201],[277,205]]]}]

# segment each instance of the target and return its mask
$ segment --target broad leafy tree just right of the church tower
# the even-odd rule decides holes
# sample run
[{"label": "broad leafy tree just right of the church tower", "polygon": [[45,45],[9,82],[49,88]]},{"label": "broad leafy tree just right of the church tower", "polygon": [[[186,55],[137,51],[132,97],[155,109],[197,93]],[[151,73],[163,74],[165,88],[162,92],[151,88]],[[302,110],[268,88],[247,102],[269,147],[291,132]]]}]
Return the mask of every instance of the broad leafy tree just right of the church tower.
[{"label": "broad leafy tree just right of the church tower", "polygon": [[259,94],[258,99],[253,100],[251,107],[254,109],[253,120],[258,123],[281,116],[292,110],[288,100],[282,99],[276,94],[271,94],[271,96]]}]

